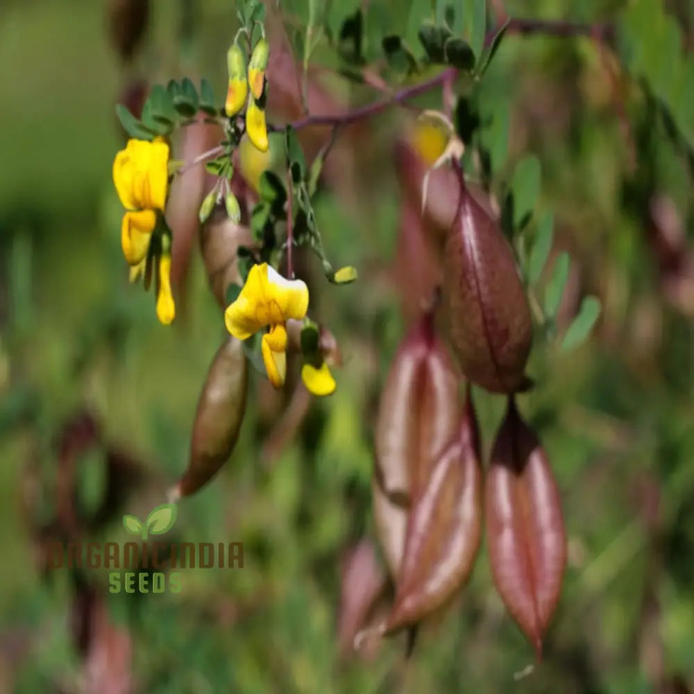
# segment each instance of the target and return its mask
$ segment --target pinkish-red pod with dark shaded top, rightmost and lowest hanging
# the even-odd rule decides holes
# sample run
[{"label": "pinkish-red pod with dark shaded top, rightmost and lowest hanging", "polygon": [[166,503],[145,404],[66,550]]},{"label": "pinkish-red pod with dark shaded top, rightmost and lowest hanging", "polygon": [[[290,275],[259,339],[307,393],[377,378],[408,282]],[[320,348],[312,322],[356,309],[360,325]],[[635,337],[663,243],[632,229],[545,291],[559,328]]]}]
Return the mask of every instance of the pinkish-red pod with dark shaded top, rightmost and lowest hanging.
[{"label": "pinkish-red pod with dark shaded top, rightmost and lowest hanging", "polygon": [[511,398],[491,453],[485,511],[494,583],[539,659],[561,592],[566,532],[547,455]]}]

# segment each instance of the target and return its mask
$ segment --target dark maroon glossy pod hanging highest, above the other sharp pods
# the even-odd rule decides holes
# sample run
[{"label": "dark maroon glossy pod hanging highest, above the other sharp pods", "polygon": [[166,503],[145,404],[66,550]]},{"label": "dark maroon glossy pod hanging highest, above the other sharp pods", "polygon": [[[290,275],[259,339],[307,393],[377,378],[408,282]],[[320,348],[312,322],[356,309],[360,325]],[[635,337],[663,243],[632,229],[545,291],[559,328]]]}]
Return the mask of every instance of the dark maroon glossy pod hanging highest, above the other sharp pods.
[{"label": "dark maroon glossy pod hanging highest, above the other sharp pods", "polygon": [[523,284],[497,219],[462,175],[443,276],[451,346],[464,375],[493,393],[527,387],[532,319]]}]

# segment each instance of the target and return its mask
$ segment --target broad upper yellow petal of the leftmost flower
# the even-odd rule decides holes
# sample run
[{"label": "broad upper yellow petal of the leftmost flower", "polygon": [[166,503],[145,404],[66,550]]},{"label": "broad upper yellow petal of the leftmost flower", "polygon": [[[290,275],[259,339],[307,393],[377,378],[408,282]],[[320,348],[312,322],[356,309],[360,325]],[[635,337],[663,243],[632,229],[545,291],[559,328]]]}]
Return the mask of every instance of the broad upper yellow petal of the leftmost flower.
[{"label": "broad upper yellow petal of the leftmost flower", "polygon": [[113,162],[113,183],[126,210],[162,210],[167,202],[169,145],[130,139]]}]

